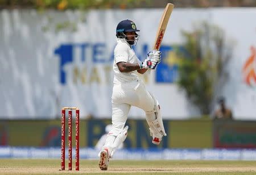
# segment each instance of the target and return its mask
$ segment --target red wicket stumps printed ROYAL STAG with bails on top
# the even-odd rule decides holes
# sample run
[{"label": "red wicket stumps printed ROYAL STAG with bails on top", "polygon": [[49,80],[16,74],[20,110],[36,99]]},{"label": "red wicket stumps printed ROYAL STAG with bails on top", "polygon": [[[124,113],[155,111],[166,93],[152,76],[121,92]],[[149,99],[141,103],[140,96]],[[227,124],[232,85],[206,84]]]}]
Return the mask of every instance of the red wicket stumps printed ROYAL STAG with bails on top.
[{"label": "red wicket stumps printed ROYAL STAG with bails on top", "polygon": [[76,111],[76,170],[79,170],[79,109],[63,107],[61,110],[61,170],[65,170],[65,111],[68,110],[68,170],[72,170],[72,110]]}]

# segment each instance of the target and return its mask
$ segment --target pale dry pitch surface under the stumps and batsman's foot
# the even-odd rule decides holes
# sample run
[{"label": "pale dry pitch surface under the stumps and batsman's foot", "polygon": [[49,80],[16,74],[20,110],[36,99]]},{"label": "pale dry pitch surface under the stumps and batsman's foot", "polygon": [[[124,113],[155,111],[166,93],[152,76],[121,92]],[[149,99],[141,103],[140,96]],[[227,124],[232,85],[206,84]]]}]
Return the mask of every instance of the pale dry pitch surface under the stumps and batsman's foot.
[{"label": "pale dry pitch surface under the stumps and batsman's foot", "polygon": [[[66,169],[67,160],[66,160]],[[97,160],[80,160],[80,171],[60,171],[56,159],[0,159],[0,174],[256,174],[256,161],[110,160],[109,169]],[[75,163],[73,163],[75,169]]]}]

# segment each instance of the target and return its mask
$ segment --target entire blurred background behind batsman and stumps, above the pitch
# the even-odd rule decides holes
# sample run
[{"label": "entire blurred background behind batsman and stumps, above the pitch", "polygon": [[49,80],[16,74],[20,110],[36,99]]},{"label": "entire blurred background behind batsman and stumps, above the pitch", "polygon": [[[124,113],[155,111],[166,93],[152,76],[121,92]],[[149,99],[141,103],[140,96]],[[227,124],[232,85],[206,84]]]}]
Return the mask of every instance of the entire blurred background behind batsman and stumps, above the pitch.
[{"label": "entire blurred background behind batsman and stumps, above the pitch", "polygon": [[142,77],[167,137],[153,145],[133,107],[116,158],[256,160],[254,0],[0,0],[0,157],[59,158],[61,108],[76,106],[81,158],[96,159],[111,123],[115,28],[135,22],[144,60],[167,3],[162,62]]}]

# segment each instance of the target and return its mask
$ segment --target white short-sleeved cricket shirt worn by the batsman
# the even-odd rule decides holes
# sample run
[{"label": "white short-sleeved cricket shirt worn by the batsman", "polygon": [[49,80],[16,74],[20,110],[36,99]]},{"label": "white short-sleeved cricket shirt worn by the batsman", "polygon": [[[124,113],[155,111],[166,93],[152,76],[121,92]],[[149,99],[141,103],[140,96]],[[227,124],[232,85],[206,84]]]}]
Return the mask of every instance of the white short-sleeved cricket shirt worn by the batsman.
[{"label": "white short-sleeved cricket shirt worn by the batsman", "polygon": [[118,62],[129,62],[132,64],[139,63],[138,57],[135,55],[130,44],[127,43],[125,39],[117,38],[117,45],[114,49],[114,84],[119,84],[122,82],[130,82],[138,80],[138,72],[134,70],[133,72],[120,72],[117,66]]}]

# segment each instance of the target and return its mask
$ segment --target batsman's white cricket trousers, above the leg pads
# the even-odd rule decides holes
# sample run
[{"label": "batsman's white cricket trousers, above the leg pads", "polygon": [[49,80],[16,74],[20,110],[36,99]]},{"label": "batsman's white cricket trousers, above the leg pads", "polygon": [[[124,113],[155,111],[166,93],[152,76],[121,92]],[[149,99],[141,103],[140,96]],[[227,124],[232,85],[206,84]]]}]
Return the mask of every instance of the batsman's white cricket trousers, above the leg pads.
[{"label": "batsman's white cricket trousers, above the leg pads", "polygon": [[154,99],[141,80],[114,85],[112,94],[113,127],[109,133],[117,136],[122,131],[131,106],[136,106],[144,110],[145,113],[154,111]]}]

